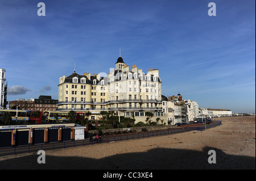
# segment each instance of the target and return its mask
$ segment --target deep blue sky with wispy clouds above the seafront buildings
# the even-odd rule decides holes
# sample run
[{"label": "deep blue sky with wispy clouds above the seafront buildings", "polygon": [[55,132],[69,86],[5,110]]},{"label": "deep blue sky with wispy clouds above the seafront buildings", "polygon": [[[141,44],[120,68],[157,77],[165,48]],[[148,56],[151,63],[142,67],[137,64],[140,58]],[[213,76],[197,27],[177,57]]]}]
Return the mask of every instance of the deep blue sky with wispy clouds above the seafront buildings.
[{"label": "deep blue sky with wispy clouds above the seafront buildings", "polygon": [[130,67],[159,69],[166,96],[255,113],[254,0],[0,0],[9,101],[58,99],[59,77],[73,73],[74,61],[76,73],[108,73],[119,48]]}]

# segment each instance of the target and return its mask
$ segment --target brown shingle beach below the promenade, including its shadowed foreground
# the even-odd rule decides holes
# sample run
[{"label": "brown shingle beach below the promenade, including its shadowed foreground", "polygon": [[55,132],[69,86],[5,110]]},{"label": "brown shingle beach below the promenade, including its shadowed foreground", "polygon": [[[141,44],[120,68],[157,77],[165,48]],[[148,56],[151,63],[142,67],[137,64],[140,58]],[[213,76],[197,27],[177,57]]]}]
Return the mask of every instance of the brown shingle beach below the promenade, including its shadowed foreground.
[{"label": "brown shingle beach below the promenade, including its shadowed foreground", "polygon": [[[221,117],[207,131],[0,157],[0,169],[254,169],[255,116]],[[209,164],[209,150],[216,164]]]}]

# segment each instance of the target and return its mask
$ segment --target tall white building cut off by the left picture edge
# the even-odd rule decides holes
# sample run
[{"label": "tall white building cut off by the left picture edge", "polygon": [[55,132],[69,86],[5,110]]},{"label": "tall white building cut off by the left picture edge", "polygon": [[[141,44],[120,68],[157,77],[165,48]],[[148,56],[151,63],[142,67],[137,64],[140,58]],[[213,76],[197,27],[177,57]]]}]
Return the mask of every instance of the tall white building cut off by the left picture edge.
[{"label": "tall white building cut off by the left picture edge", "polygon": [[0,109],[6,108],[7,86],[5,85],[5,69],[0,69]]}]

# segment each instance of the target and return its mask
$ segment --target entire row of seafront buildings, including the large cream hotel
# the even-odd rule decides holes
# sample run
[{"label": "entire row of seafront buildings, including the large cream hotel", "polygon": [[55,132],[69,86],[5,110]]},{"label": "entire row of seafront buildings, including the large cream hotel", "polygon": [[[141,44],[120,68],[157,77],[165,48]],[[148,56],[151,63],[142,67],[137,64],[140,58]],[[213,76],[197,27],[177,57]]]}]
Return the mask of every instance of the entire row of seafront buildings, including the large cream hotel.
[{"label": "entire row of seafront buildings, including the large cream hotel", "polygon": [[[6,107],[7,86],[5,69],[0,69],[1,108]],[[38,99],[17,99],[9,102],[10,109],[31,111],[79,111],[91,113],[89,119],[100,120],[101,111],[113,111],[117,116],[131,117],[135,123],[146,122],[146,112],[152,112],[151,121],[160,118],[163,124],[187,123],[198,117],[232,115],[230,110],[200,109],[197,102],[177,96],[162,95],[162,81],[158,69],[144,73],[137,65],[125,64],[118,57],[115,68],[108,75],[77,74],[59,78],[59,99],[40,95]]]}]

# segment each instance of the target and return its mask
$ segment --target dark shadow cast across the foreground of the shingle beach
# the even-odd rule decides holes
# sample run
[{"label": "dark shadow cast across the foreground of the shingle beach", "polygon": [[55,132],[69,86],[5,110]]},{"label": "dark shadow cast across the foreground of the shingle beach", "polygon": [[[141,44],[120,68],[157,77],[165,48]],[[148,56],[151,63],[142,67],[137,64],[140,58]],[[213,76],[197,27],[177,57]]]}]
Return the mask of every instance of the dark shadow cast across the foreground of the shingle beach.
[{"label": "dark shadow cast across the foreground of the shingle beach", "polygon": [[[216,151],[216,163],[208,163],[209,150]],[[86,151],[83,153],[86,156]],[[37,162],[36,153],[0,161],[0,169],[82,169],[82,170],[222,170],[254,169],[255,157],[229,155],[216,148],[203,151],[154,148],[147,152],[117,154],[101,159],[86,157],[55,157],[46,153],[46,163]]]}]

